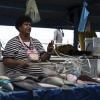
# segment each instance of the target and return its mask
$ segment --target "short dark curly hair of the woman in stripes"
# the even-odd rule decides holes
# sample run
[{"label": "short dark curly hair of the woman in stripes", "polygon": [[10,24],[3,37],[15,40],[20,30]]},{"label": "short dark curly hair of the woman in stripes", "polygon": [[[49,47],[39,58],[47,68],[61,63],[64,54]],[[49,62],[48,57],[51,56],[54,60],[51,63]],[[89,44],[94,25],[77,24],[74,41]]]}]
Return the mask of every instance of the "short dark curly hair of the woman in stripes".
[{"label": "short dark curly hair of the woman in stripes", "polygon": [[24,22],[30,22],[32,23],[32,20],[29,16],[20,16],[16,21],[15,21],[15,28],[19,31],[19,27],[22,26]]}]

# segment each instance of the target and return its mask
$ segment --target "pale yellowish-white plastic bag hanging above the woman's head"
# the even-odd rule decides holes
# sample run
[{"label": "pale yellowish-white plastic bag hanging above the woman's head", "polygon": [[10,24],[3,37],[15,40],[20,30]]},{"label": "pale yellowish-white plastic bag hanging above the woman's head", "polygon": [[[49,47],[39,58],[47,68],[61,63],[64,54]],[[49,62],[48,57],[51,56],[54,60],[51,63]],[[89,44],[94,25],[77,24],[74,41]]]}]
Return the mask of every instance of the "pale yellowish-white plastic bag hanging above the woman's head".
[{"label": "pale yellowish-white plastic bag hanging above the woman's head", "polygon": [[30,16],[33,23],[40,21],[40,15],[35,0],[27,1],[25,15]]}]

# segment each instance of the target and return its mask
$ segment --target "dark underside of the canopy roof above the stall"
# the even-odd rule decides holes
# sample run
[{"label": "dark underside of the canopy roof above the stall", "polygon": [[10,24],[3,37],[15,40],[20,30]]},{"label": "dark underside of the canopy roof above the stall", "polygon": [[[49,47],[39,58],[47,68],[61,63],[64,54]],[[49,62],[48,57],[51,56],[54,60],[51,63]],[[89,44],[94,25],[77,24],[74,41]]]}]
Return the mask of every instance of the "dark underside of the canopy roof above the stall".
[{"label": "dark underside of the canopy roof above the stall", "polygon": [[[0,0],[0,25],[13,26],[16,18],[25,14],[26,1]],[[100,31],[100,0],[85,1],[88,3],[92,28]],[[78,15],[81,13],[83,2],[84,0],[36,0],[41,21],[33,24],[33,27],[74,29],[74,13],[76,10]]]}]

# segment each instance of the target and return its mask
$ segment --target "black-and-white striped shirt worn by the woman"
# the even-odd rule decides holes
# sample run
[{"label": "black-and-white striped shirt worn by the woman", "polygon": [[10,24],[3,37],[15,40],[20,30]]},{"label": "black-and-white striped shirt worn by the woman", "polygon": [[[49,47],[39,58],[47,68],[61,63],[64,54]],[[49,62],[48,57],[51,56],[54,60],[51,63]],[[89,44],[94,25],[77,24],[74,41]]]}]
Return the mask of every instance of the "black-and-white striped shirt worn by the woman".
[{"label": "black-and-white striped shirt worn by the woman", "polygon": [[[33,47],[36,48],[36,50],[39,53],[42,53],[45,51],[42,44],[37,39],[32,38],[32,41],[33,41]],[[3,52],[3,57],[4,58],[10,57],[16,60],[28,61],[25,48],[22,46],[21,42],[19,41],[17,37],[14,37],[8,41],[8,43],[6,44],[5,50]],[[13,73],[13,72],[34,73],[34,74],[43,73],[42,68],[38,66],[27,67],[27,68],[23,68],[21,66],[15,66],[13,68],[10,68],[6,66],[6,73]]]}]

